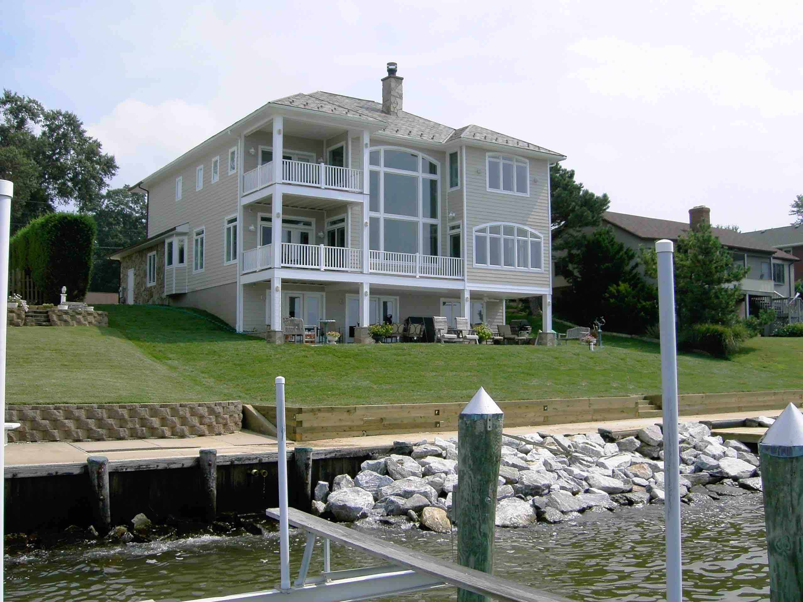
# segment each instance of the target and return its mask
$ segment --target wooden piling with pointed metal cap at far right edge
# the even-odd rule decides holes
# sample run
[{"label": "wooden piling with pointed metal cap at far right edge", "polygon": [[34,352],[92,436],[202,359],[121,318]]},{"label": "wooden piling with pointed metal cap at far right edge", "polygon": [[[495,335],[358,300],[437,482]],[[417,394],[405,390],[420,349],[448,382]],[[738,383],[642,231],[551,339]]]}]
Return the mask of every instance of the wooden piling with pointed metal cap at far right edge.
[{"label": "wooden piling with pointed metal cap at far right edge", "polygon": [[803,414],[789,404],[758,444],[772,602],[803,600]]}]

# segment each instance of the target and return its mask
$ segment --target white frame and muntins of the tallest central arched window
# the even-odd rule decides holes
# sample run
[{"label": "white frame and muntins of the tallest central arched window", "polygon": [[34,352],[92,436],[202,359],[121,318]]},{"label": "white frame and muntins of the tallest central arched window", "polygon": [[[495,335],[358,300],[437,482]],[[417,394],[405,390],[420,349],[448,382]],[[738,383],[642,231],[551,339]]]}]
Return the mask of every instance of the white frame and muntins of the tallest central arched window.
[{"label": "white frame and muntins of the tallest central arched window", "polygon": [[[418,156],[418,171],[409,171],[407,169],[394,169],[392,167],[385,167],[385,150],[398,150],[404,153],[412,153]],[[442,177],[443,177],[443,165],[440,161],[435,159],[434,157],[430,157],[422,153],[419,150],[414,148],[405,148],[403,146],[373,146],[368,149],[368,153],[372,153],[373,151],[379,151],[379,165],[369,165],[369,172],[374,171],[379,173],[379,211],[370,211],[369,210],[369,218],[378,218],[379,219],[379,248],[380,250],[385,250],[385,218],[387,219],[395,219],[395,220],[402,220],[405,222],[418,222],[418,253],[423,255],[429,255],[429,253],[424,253],[424,233],[425,233],[425,226],[427,224],[435,224],[438,226],[438,255],[434,255],[434,257],[440,257],[440,253],[442,251],[442,239],[443,239],[443,226],[441,223],[441,209],[443,204],[442,199]],[[430,173],[423,172],[424,160],[432,161],[435,165],[438,166],[438,174],[432,175]],[[398,214],[387,214],[385,213],[385,177],[384,173],[399,173],[405,176],[415,175],[418,177],[418,185],[416,187],[417,194],[418,194],[418,217],[411,217],[410,215],[398,215]],[[368,174],[370,177],[370,173]],[[438,182],[438,217],[437,218],[425,218],[424,215],[424,198],[422,194],[422,183],[424,180],[435,180]],[[369,200],[366,199],[366,202]]]}]

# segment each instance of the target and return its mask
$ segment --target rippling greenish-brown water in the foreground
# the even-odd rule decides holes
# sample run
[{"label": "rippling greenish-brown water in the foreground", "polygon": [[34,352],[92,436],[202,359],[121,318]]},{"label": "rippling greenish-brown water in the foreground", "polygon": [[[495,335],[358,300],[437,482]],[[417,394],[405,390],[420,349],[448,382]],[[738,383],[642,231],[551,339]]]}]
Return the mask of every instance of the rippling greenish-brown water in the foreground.
[{"label": "rippling greenish-brown water in the foreground", "polygon": [[[367,531],[403,546],[451,558],[449,535],[418,529]],[[570,600],[662,600],[662,506],[589,514],[575,523],[496,534],[496,574]],[[291,532],[291,577],[304,551]],[[456,538],[455,538],[456,544]],[[683,506],[683,593],[694,602],[769,599],[764,510],[760,494]],[[377,560],[332,545],[332,569]],[[87,544],[6,558],[5,600],[178,602],[272,588],[279,581],[279,539],[206,536],[124,547]],[[319,548],[310,574],[322,568]],[[455,600],[454,588],[404,600]]]}]

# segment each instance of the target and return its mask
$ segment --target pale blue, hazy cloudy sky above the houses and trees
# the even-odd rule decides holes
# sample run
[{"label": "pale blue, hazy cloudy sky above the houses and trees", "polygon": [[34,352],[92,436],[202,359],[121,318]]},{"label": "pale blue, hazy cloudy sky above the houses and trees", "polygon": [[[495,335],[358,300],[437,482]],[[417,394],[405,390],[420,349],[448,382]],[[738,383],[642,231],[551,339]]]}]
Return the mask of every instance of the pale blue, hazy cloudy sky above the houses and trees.
[{"label": "pale blue, hazy cloudy sky above the houses and trees", "polygon": [[564,153],[614,211],[753,230],[803,193],[800,2],[9,5],[3,87],[78,114],[115,185],[268,100],[379,100],[393,60],[407,111]]}]

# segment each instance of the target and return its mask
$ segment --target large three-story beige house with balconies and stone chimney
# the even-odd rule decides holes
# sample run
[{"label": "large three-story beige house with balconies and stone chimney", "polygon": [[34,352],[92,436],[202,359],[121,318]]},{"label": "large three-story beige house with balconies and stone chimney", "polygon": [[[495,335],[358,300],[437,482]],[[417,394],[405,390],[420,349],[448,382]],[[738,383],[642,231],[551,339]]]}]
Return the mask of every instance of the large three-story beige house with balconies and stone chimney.
[{"label": "large three-story beige house with balconies and stone chimney", "polygon": [[287,96],[133,188],[148,237],[117,251],[126,303],[201,307],[238,331],[334,319],[368,340],[385,316],[503,323],[504,299],[541,295],[552,325],[549,165],[536,144],[382,102]]}]

